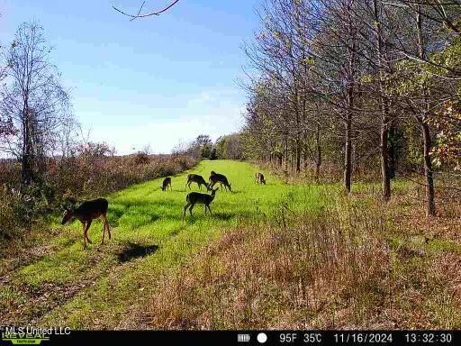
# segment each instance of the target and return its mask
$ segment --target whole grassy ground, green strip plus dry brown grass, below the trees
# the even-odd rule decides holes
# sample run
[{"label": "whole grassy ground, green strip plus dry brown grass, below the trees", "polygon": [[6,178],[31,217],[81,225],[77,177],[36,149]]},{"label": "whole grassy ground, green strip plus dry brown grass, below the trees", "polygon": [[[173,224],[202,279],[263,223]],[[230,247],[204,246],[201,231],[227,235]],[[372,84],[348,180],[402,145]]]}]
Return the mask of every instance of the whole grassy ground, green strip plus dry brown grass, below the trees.
[{"label": "whole grassy ground, green strip plus dry brown grass, below the trees", "polygon": [[266,174],[259,186],[258,168],[226,160],[193,171],[207,178],[211,170],[232,184],[217,192],[212,216],[197,205],[183,219],[186,172],[172,179],[173,191],[157,179],[108,196],[113,239],[104,245],[101,222],[83,250],[80,224],[63,227],[56,217],[20,260],[0,263],[11,269],[0,278],[0,324],[461,327],[459,225],[419,223],[421,209],[398,197],[412,193],[407,183],[393,184],[396,197],[384,205],[374,185],[345,196],[339,185]]}]

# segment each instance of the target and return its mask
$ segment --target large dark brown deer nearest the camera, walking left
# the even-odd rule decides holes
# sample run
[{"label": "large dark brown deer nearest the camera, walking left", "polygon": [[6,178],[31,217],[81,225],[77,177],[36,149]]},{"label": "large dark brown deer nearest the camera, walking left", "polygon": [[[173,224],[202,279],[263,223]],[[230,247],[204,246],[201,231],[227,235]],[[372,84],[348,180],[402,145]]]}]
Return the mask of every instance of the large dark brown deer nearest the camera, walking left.
[{"label": "large dark brown deer nearest the camera, walking left", "polygon": [[101,244],[104,244],[105,230],[109,232],[109,239],[111,239],[111,227],[109,227],[109,222],[107,221],[108,207],[109,202],[107,202],[107,199],[97,198],[92,201],[86,201],[82,203],[75,210],[66,208],[61,224],[66,224],[72,219],[78,219],[83,225],[83,242],[84,249],[86,249],[86,241],[88,241],[90,244],[92,243],[92,241],[90,241],[88,238],[88,229],[90,228],[93,220],[101,217],[104,223],[103,241],[101,241]]}]

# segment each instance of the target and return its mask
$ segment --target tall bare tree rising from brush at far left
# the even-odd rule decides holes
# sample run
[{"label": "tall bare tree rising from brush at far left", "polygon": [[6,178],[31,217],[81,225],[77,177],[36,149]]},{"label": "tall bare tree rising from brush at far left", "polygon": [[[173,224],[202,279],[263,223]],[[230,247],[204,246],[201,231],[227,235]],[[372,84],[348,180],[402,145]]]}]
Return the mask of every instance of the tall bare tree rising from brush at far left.
[{"label": "tall bare tree rising from brush at far left", "polygon": [[1,109],[16,132],[1,149],[21,161],[23,185],[39,178],[43,160],[56,148],[57,133],[72,118],[50,51],[41,26],[23,23],[5,53],[8,68]]}]

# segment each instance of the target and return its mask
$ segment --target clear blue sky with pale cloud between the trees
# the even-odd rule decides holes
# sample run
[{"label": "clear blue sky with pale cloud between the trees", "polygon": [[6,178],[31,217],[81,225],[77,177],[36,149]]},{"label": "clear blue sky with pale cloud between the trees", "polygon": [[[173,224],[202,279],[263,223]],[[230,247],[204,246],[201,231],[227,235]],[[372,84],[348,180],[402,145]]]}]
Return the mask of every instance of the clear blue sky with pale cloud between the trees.
[{"label": "clear blue sky with pale cloud between the trees", "polygon": [[[145,11],[169,0],[147,0]],[[51,60],[71,89],[74,114],[92,141],[119,154],[169,152],[198,134],[213,139],[242,125],[246,58],[259,0],[180,0],[170,11],[130,22],[142,0],[0,0],[0,43],[35,20]]]}]

